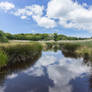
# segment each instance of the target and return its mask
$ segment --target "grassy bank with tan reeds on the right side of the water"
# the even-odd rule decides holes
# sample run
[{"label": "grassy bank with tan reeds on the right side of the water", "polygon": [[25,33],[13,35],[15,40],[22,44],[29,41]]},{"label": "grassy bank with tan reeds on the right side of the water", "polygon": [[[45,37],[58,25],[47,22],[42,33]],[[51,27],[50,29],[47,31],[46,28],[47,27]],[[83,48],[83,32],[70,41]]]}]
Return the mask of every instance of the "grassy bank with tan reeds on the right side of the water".
[{"label": "grassy bank with tan reeds on the right side of the water", "polygon": [[92,61],[92,40],[42,42],[44,50],[62,50],[66,57],[83,57]]}]

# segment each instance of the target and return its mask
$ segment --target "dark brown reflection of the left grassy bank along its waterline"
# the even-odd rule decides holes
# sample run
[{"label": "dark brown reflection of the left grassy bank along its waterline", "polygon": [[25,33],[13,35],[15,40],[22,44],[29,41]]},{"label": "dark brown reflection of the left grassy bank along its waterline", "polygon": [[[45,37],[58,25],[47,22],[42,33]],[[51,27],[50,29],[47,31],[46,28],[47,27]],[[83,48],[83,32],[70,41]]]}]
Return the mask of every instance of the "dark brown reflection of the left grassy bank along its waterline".
[{"label": "dark brown reflection of the left grassy bank along its waterline", "polygon": [[[38,54],[39,53],[39,54]],[[22,62],[16,62],[14,64],[9,64],[5,68],[0,69],[0,85],[2,85],[3,81],[8,78],[14,78],[18,74],[18,72],[21,72],[29,67],[31,67],[40,57],[42,52],[35,53],[34,56],[30,57],[30,59]],[[15,57],[16,58],[16,57]]]}]

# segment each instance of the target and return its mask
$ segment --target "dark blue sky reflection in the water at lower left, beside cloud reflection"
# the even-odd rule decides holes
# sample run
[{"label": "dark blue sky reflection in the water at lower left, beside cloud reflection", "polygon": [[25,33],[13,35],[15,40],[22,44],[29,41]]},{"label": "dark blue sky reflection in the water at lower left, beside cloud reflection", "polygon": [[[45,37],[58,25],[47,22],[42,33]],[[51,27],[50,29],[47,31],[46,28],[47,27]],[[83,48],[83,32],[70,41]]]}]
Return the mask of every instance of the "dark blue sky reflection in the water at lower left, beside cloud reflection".
[{"label": "dark blue sky reflection in the water at lower left, beside cloud reflection", "polygon": [[13,79],[8,79],[4,92],[48,92],[49,86],[52,87],[54,84],[53,81],[49,79],[45,67],[43,67],[43,71],[45,74],[40,77],[21,73]]}]

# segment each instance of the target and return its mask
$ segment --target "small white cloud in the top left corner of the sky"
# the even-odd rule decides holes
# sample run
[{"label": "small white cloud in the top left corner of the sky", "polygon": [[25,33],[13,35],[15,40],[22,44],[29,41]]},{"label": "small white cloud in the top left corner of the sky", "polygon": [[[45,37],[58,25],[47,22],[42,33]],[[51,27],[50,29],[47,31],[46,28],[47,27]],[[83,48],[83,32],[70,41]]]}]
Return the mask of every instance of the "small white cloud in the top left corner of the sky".
[{"label": "small white cloud in the top left corner of the sky", "polygon": [[15,5],[10,2],[0,2],[0,9],[4,10],[5,12],[15,8]]}]

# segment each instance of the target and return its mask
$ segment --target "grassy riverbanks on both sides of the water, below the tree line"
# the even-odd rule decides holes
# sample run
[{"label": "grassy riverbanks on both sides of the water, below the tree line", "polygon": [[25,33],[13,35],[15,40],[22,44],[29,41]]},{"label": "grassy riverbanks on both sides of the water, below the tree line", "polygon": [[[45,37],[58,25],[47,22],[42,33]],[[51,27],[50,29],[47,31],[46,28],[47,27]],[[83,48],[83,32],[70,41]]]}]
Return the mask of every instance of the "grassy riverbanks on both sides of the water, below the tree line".
[{"label": "grassy riverbanks on both sides of the water, below the tree line", "polygon": [[41,50],[62,50],[67,56],[90,58],[92,61],[92,40],[77,41],[17,41],[0,43],[0,67],[35,58]]}]

